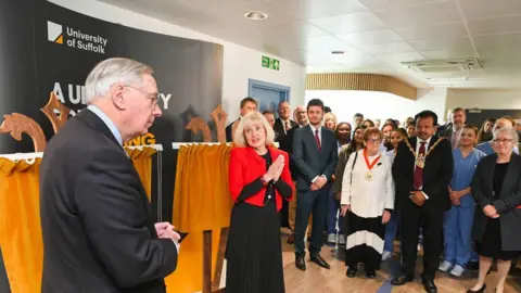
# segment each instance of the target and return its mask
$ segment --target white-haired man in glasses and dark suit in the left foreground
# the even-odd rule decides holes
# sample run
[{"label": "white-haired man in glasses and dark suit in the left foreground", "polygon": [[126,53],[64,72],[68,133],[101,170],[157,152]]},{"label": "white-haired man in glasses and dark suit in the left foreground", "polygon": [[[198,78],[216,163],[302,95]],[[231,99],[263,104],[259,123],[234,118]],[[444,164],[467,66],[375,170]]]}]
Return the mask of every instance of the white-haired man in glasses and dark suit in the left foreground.
[{"label": "white-haired man in glasses and dark suit in the left foreground", "polygon": [[128,59],[98,64],[88,107],[49,142],[40,166],[43,293],[165,292],[179,234],[150,220],[150,203],[123,143],[162,113],[153,71]]}]

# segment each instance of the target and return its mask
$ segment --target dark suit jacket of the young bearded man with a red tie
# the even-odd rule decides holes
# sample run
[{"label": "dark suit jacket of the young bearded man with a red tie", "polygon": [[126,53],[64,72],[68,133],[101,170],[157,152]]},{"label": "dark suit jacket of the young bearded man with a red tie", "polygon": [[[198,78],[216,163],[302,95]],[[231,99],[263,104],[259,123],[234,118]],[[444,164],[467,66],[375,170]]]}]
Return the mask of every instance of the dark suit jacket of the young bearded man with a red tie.
[{"label": "dark suit jacket of the young bearded man with a red tie", "polygon": [[332,182],[332,175],[339,156],[336,137],[333,131],[321,128],[321,149],[318,149],[309,125],[295,130],[293,158],[298,168],[297,190],[309,190],[312,180],[325,175]]}]

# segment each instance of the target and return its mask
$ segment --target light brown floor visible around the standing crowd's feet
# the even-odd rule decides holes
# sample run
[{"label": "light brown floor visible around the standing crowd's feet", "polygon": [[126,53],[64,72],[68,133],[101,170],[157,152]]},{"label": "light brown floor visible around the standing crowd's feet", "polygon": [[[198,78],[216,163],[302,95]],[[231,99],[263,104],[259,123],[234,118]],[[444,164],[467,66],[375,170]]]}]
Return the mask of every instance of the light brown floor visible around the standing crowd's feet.
[{"label": "light brown floor visible around the standing crowd's feet", "polygon": [[[289,230],[282,229],[282,259],[284,265],[284,280],[287,293],[326,293],[326,292],[424,292],[420,281],[421,257],[418,257],[418,273],[415,282],[403,285],[392,286],[391,276],[399,271],[399,255],[395,254],[393,260],[382,263],[382,267],[377,271],[377,279],[366,279],[364,270],[359,270],[359,276],[350,279],[345,276],[346,267],[343,262],[343,246],[334,247],[325,245],[320,255],[331,265],[331,269],[322,269],[310,263],[309,255],[306,254],[306,271],[295,268],[295,254],[293,245],[287,244]],[[397,251],[397,250],[396,250]],[[516,271],[514,276],[509,276],[504,292],[521,292],[521,273]],[[467,292],[473,286],[478,278],[476,271],[466,271],[461,278],[452,278],[447,273],[437,272],[435,283],[439,292]],[[492,271],[487,277],[486,292],[495,292],[497,273]]]}]

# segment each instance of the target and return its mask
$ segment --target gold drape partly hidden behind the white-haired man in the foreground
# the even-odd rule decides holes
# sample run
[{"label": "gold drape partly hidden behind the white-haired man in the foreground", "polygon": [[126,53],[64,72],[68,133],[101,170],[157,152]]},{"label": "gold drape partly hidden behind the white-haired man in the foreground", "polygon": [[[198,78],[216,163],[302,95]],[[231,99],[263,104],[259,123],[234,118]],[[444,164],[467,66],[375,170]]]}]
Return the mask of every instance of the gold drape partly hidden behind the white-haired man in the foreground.
[{"label": "gold drape partly hidden behind the white-haired man in the foreground", "polygon": [[[152,182],[152,148],[126,150],[149,195]],[[0,246],[11,292],[41,290],[43,241],[40,226],[39,167],[0,157]]]}]

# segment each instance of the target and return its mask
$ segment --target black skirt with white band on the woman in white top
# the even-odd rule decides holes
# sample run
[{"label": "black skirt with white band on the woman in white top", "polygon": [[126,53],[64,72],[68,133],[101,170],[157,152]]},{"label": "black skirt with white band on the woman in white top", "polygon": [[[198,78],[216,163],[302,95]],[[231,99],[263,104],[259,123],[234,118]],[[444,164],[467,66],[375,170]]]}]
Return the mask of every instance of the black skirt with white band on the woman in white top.
[{"label": "black skirt with white band on the woman in white top", "polygon": [[366,269],[379,269],[385,237],[382,217],[363,218],[350,212],[348,218],[345,264],[364,263]]}]

